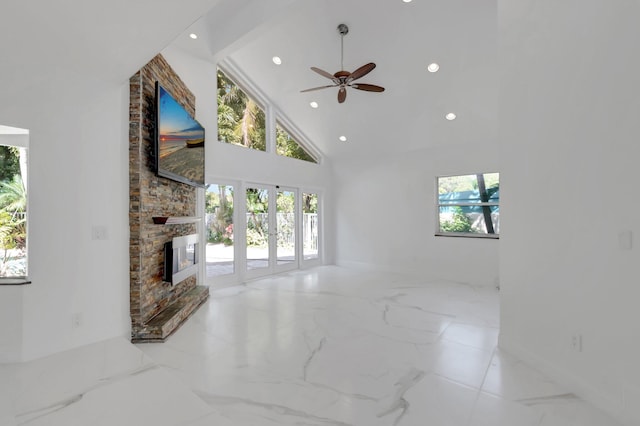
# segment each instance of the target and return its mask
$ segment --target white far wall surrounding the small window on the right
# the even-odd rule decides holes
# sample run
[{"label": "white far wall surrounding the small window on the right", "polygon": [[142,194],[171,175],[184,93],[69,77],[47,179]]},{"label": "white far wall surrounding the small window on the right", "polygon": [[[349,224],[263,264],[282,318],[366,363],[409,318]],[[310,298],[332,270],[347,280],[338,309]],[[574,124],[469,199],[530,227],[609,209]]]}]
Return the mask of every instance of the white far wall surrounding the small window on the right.
[{"label": "white far wall surrounding the small window on the right", "polygon": [[469,146],[336,162],[337,263],[497,284],[499,240],[434,236],[437,176],[500,171],[495,141]]}]

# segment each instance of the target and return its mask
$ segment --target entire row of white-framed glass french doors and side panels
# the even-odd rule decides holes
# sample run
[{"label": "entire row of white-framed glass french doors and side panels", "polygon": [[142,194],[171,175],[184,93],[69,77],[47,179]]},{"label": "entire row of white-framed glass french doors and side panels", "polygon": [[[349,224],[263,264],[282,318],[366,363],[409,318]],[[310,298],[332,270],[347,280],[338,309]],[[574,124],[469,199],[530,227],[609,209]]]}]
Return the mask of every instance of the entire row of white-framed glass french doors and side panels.
[{"label": "entire row of white-framed glass french doors and side panels", "polygon": [[320,264],[319,194],[228,181],[204,192],[203,273],[225,287]]}]

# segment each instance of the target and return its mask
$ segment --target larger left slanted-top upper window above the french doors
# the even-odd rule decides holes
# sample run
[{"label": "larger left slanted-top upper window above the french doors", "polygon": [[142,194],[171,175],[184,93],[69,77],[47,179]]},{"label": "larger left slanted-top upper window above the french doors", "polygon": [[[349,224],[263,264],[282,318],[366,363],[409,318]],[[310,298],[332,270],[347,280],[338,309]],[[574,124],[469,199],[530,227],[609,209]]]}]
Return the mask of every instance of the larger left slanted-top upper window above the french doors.
[{"label": "larger left slanted-top upper window above the french doors", "polygon": [[218,140],[266,151],[264,110],[218,69]]}]

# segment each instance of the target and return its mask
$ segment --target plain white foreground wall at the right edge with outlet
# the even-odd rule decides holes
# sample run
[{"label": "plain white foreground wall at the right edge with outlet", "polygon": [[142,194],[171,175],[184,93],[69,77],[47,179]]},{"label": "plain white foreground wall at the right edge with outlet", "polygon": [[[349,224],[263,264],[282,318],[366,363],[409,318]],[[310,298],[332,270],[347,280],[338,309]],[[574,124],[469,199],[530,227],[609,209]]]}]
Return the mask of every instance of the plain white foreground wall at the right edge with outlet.
[{"label": "plain white foreground wall at the right edge with outlet", "polygon": [[499,11],[500,345],[637,425],[640,3]]}]

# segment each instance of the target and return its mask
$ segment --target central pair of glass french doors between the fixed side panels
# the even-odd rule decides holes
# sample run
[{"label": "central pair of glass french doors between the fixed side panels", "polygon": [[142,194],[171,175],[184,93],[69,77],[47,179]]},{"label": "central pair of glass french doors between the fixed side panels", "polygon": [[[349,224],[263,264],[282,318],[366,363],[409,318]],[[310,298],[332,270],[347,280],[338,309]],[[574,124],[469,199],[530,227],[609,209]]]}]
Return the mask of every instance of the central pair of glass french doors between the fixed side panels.
[{"label": "central pair of glass french doors between the fixed side panels", "polygon": [[245,203],[247,277],[297,268],[297,191],[249,184]]}]

